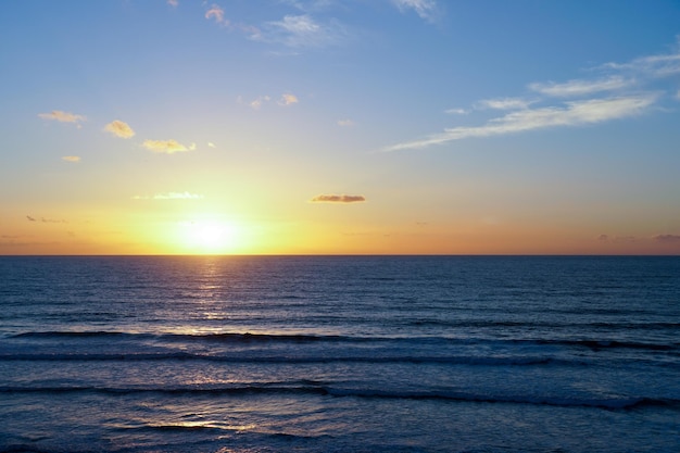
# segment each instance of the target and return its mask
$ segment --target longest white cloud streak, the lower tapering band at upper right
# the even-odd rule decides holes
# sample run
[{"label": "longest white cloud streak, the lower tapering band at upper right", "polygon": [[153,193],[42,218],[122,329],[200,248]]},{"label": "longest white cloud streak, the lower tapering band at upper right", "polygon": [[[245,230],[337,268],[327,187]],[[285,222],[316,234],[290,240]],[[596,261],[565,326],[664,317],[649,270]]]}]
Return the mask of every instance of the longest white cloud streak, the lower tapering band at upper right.
[{"label": "longest white cloud streak, the lower tapering band at upper right", "polygon": [[590,99],[567,102],[564,106],[526,109],[493,118],[482,126],[462,126],[445,129],[421,140],[393,144],[383,151],[420,149],[470,137],[490,137],[558,126],[581,126],[640,115],[656,100],[656,93]]}]

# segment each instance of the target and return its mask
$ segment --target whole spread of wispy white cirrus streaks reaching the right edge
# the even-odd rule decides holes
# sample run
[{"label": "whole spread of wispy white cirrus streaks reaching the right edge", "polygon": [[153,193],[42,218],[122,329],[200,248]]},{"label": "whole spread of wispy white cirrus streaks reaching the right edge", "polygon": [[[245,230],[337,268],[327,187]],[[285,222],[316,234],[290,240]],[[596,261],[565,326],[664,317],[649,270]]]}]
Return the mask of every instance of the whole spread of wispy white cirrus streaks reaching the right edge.
[{"label": "whole spread of wispy white cirrus streaks reaching the right edge", "polygon": [[[680,46],[672,54],[643,56],[625,64],[602,65],[600,70],[619,72],[605,77],[571,79],[562,84],[529,84],[528,88],[543,99],[529,101],[521,98],[502,98],[478,101],[474,104],[475,110],[511,112],[490,118],[481,125],[446,128],[439,134],[385,147],[382,151],[424,149],[466,138],[584,126],[645,114],[664,98],[677,99],[677,93],[653,91],[648,89],[648,85],[659,78],[680,74]],[[562,101],[561,98],[574,100]],[[544,105],[534,106],[538,103]],[[462,111],[452,110],[448,113]]]}]

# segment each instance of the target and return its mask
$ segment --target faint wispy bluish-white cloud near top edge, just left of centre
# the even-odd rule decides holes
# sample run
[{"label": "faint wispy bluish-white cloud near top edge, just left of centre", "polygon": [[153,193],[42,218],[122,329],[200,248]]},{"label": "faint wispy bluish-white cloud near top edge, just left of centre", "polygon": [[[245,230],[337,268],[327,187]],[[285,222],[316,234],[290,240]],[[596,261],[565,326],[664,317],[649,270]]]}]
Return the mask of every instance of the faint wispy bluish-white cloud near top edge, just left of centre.
[{"label": "faint wispy bluish-white cloud near top edge, just left of centre", "polygon": [[347,37],[337,22],[319,24],[308,14],[286,15],[281,21],[267,22],[251,39],[278,42],[291,48],[318,48],[338,45]]}]

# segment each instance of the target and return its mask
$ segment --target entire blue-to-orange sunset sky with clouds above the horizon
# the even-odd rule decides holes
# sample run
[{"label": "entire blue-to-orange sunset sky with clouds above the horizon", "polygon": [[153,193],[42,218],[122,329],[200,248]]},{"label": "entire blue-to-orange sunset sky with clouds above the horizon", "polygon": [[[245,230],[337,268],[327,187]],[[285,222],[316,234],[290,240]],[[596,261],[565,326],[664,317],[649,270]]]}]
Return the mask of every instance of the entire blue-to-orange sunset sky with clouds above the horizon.
[{"label": "entire blue-to-orange sunset sky with clouds above the horizon", "polygon": [[0,254],[680,254],[677,0],[5,0]]}]

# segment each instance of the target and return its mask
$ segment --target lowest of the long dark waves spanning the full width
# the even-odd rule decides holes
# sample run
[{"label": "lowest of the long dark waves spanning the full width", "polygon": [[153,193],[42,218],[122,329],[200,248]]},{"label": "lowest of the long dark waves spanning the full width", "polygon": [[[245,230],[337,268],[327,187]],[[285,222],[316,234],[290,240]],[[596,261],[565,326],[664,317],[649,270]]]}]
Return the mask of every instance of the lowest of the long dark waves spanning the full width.
[{"label": "lowest of the long dark waves spanning the full width", "polygon": [[254,383],[240,387],[0,387],[2,393],[98,393],[106,395],[136,395],[143,393],[164,394],[168,397],[237,397],[237,395],[318,395],[331,398],[361,398],[389,400],[432,400],[458,401],[491,404],[528,404],[561,407],[596,407],[605,410],[632,410],[644,407],[667,407],[680,411],[680,400],[670,398],[620,397],[620,398],[570,398],[570,397],[537,397],[522,394],[482,394],[457,391],[401,391],[375,389],[349,389],[331,386],[298,382],[298,385]]}]

